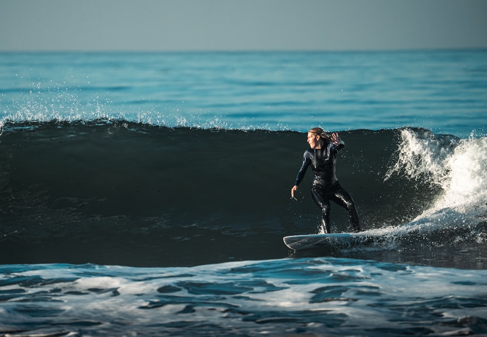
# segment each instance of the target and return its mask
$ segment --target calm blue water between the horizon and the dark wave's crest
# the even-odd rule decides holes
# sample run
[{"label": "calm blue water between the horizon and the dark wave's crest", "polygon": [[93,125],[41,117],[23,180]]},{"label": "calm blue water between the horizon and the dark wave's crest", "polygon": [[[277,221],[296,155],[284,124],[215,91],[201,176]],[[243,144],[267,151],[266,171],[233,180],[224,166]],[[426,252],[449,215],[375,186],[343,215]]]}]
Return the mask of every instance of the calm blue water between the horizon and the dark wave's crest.
[{"label": "calm blue water between the horizon and the dark wave's crest", "polygon": [[8,53],[0,55],[0,122],[483,135],[486,53]]}]

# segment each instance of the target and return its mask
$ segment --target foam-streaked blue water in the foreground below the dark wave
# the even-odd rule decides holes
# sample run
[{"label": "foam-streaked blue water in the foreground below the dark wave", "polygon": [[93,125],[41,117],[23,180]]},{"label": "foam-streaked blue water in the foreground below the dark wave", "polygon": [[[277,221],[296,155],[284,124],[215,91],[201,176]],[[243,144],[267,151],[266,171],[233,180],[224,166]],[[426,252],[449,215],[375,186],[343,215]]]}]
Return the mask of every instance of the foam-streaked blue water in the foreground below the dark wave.
[{"label": "foam-streaked blue water in the foreground below the dark wave", "polygon": [[5,265],[0,333],[485,336],[486,276],[334,258],[190,268]]}]

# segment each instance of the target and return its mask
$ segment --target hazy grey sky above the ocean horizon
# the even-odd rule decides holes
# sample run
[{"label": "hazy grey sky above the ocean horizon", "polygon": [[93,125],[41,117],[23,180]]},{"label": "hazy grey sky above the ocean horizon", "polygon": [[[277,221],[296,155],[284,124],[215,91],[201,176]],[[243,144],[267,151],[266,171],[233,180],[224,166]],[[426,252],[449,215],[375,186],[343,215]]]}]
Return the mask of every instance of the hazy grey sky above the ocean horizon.
[{"label": "hazy grey sky above the ocean horizon", "polygon": [[0,0],[0,51],[487,48],[487,0]]}]

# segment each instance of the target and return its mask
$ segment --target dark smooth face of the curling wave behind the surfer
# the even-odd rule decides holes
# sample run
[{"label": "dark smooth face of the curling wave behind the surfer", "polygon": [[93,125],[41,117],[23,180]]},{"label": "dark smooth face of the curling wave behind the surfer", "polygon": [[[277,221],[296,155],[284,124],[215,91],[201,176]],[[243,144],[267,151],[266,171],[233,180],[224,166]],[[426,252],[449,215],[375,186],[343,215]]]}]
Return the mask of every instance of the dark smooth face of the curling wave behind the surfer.
[{"label": "dark smooth face of the curling wave behind the surfer", "polygon": [[[439,192],[399,175],[384,181],[398,132],[340,133],[346,147],[337,175],[365,229],[404,224]],[[286,257],[282,237],[317,233],[319,223],[311,171],[298,201],[290,199],[307,146],[305,134],[292,131],[7,125],[0,136],[0,264],[181,266]],[[332,229],[351,229],[334,205]],[[393,260],[467,266],[414,247]],[[442,249],[442,256],[458,256]],[[391,259],[384,252],[347,256],[354,254]]]}]

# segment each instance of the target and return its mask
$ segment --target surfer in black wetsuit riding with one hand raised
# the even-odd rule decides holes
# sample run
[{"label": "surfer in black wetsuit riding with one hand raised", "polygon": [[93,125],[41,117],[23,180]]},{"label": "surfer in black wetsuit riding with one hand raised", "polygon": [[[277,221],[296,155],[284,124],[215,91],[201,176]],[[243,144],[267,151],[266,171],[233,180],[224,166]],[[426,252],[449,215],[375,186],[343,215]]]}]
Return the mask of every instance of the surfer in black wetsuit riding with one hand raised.
[{"label": "surfer in black wetsuit riding with one hand raised", "polygon": [[321,209],[321,225],[324,233],[331,233],[330,200],[345,207],[354,230],[356,232],[362,231],[354,201],[340,185],[336,175],[337,153],[343,149],[345,143],[340,139],[337,132],[333,132],[330,136],[321,128],[313,128],[308,131],[308,144],[310,149],[304,151],[303,163],[296,177],[296,183],[291,188],[291,197],[294,198],[294,192],[304,178],[306,169],[311,165],[315,174],[311,185],[311,195]]}]

